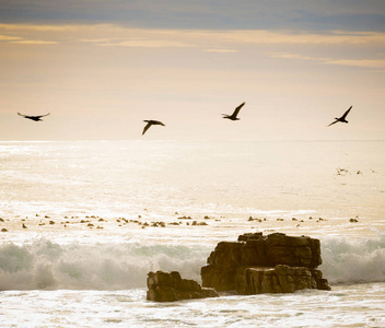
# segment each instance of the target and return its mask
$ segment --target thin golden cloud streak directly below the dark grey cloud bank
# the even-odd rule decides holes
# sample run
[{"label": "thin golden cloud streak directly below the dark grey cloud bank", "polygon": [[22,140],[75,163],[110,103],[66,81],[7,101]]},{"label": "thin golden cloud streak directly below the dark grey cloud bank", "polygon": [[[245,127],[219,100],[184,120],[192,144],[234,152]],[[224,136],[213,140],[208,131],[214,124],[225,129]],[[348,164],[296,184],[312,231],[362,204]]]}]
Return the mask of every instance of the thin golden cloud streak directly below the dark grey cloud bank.
[{"label": "thin golden cloud streak directly below the dark grey cloud bank", "polygon": [[[385,44],[385,33],[329,31],[299,33],[267,30],[158,30],[128,28],[114,24],[25,25],[0,24],[0,33],[10,38],[48,39],[49,42],[95,43],[124,47],[192,47],[233,49],[234,45],[369,45]],[[80,37],[81,36],[81,37]],[[5,40],[5,39],[4,39]],[[220,43],[220,44],[219,44]],[[212,45],[215,45],[212,47]],[[218,46],[217,46],[218,45]]]}]

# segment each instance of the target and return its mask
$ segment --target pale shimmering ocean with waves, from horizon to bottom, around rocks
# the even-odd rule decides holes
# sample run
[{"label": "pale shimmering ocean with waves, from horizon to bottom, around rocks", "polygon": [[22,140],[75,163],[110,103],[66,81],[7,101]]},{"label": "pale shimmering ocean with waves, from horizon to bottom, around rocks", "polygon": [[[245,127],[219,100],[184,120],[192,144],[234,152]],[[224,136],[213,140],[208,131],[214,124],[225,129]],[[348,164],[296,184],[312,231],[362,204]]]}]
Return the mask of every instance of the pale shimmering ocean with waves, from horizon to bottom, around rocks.
[{"label": "pale shimmering ocean with waves, from horizon to bottom, around rocks", "polygon": [[[385,141],[0,142],[1,327],[385,327]],[[153,303],[248,232],[319,238],[331,291]]]}]

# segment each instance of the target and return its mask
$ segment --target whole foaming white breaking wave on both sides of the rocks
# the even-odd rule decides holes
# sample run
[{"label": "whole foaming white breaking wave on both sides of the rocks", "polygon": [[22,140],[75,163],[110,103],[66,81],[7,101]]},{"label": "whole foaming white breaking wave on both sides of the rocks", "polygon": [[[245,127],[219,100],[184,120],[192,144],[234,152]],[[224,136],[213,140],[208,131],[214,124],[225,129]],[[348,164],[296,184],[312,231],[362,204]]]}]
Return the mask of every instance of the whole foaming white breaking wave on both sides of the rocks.
[{"label": "whole foaming white breaking wave on both sides of the rocks", "polygon": [[[385,235],[320,241],[319,269],[330,284],[385,281]],[[38,239],[0,246],[0,290],[122,290],[144,288],[149,271],[179,271],[200,282],[209,246],[60,245]]]}]

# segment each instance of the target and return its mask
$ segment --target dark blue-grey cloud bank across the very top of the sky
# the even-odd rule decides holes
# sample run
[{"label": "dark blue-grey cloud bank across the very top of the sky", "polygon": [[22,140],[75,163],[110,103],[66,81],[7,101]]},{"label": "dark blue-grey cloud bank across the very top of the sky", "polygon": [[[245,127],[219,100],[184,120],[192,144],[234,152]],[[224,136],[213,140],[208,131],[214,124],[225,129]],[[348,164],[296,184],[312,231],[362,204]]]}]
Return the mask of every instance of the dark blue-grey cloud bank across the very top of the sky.
[{"label": "dark blue-grey cloud bank across the very top of the sky", "polygon": [[12,0],[1,22],[107,23],[141,28],[385,31],[383,0]]}]

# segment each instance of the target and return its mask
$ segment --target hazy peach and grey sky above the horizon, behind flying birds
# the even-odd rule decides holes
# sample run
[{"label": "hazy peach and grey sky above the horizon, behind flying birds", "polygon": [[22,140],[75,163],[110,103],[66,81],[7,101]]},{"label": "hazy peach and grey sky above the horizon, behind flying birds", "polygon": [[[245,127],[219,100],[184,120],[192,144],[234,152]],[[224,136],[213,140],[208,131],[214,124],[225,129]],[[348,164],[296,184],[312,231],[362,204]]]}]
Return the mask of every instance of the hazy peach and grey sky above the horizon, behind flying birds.
[{"label": "hazy peach and grey sky above the horizon, behind flying birds", "polygon": [[0,72],[1,141],[384,140],[385,1],[0,0]]}]

